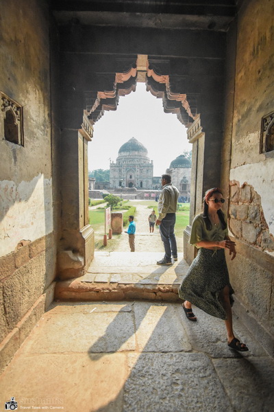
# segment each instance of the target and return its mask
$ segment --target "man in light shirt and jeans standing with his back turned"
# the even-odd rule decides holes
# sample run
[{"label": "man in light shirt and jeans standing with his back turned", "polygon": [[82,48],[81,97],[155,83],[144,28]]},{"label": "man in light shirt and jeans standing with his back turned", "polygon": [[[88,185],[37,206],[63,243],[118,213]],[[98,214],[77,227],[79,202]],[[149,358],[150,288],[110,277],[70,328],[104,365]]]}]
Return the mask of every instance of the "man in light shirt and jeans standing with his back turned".
[{"label": "man in light shirt and jeans standing with his back turned", "polygon": [[158,201],[159,216],[156,225],[160,225],[160,233],[164,242],[164,258],[157,264],[169,265],[171,262],[171,253],[173,259],[177,260],[177,243],[174,233],[177,211],[177,200],[179,190],[171,183],[170,174],[162,174],[162,192]]}]

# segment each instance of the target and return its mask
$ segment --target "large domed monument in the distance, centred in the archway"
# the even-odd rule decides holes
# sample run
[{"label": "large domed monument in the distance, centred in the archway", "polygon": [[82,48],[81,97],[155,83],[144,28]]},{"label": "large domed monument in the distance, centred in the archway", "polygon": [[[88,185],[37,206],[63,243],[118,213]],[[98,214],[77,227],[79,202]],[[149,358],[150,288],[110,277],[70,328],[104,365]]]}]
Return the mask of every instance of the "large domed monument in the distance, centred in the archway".
[{"label": "large domed monument in the distance, centred in the archway", "polygon": [[153,161],[147,149],[132,137],[121,146],[116,163],[110,163],[110,189],[136,187],[153,189]]}]

